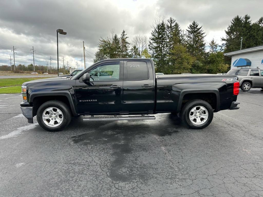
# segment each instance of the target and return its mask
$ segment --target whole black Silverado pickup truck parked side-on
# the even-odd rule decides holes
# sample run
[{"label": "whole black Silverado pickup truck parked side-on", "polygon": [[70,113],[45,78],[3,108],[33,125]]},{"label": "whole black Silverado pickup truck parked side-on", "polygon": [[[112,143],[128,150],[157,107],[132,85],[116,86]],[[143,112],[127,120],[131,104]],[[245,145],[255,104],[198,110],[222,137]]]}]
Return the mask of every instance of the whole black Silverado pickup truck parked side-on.
[{"label": "whole black Silverado pickup truck parked side-on", "polygon": [[155,75],[151,59],[108,59],[73,77],[25,82],[20,107],[29,123],[37,116],[48,131],[62,130],[72,116],[154,120],[156,113],[173,113],[190,128],[201,129],[214,112],[238,109],[238,93],[235,75]]}]

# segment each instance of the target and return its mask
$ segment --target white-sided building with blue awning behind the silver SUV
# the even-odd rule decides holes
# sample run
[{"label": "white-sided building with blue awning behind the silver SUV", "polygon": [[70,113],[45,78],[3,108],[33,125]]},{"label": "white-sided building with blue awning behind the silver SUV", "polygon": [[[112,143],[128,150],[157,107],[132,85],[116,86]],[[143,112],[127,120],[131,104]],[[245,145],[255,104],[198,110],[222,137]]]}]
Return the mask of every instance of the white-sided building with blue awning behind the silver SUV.
[{"label": "white-sided building with blue awning behind the silver SUV", "polygon": [[232,58],[231,69],[259,68],[263,69],[263,45],[224,53]]}]

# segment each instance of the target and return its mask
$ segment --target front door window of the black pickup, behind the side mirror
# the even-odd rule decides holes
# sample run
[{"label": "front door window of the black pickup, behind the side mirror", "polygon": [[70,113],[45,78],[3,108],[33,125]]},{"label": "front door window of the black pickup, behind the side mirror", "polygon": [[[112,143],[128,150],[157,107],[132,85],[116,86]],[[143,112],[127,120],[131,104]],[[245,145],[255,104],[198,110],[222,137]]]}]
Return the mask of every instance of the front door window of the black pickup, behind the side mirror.
[{"label": "front door window of the black pickup, behind the side mirror", "polygon": [[91,81],[118,81],[120,79],[120,63],[103,64],[89,71]]}]

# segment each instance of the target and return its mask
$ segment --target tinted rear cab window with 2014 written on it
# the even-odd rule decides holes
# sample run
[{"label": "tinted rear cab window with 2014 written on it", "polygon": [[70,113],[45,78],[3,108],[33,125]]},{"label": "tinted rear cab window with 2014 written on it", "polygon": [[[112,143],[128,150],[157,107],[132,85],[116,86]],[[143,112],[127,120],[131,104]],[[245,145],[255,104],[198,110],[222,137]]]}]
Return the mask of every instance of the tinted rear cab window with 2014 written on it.
[{"label": "tinted rear cab window with 2014 written on it", "polygon": [[143,80],[148,78],[146,62],[127,61],[127,80]]}]

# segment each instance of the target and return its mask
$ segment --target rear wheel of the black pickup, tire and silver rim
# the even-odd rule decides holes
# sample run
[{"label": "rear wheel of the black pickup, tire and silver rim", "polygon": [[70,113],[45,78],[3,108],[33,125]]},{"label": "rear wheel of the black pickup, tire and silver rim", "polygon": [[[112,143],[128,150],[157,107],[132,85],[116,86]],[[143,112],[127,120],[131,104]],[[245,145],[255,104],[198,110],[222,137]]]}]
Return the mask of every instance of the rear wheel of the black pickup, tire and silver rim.
[{"label": "rear wheel of the black pickup, tire and silver rim", "polygon": [[[195,116],[198,115],[198,112],[200,116]],[[190,120],[190,116],[192,117],[192,120]],[[181,121],[186,126],[192,129],[203,129],[210,125],[211,121],[213,120],[213,116],[214,112],[211,105],[206,101],[196,99],[191,100],[185,104],[181,111],[180,117]]]}]

